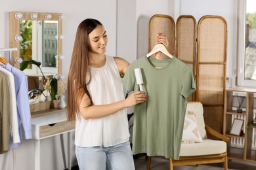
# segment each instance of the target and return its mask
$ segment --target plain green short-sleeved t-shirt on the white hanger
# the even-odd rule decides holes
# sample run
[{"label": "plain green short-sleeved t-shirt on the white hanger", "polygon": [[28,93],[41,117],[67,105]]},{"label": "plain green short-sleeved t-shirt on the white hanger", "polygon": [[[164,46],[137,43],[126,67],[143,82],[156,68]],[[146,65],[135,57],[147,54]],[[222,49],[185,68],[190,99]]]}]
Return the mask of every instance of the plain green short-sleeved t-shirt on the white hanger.
[{"label": "plain green short-sleeved t-shirt on the white hanger", "polygon": [[141,68],[148,100],[134,108],[133,154],[179,160],[187,97],[196,90],[192,69],[175,56],[144,56],[131,63],[123,77],[127,92],[139,90],[136,68]]}]

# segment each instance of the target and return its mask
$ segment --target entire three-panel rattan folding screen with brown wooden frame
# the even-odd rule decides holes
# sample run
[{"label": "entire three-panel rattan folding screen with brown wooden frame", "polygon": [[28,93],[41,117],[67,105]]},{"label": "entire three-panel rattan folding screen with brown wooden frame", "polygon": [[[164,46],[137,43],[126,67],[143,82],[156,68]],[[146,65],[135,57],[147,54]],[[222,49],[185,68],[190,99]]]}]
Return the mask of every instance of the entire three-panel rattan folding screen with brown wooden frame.
[{"label": "entire three-panel rattan folding screen with brown wooden frame", "polygon": [[193,69],[197,90],[188,101],[200,101],[205,124],[222,133],[226,88],[226,20],[221,16],[207,15],[200,18],[196,27],[193,16],[180,16],[175,30],[171,16],[156,14],[150,18],[149,51],[156,45],[158,32],[167,35],[170,42],[167,50],[174,54],[175,46],[175,56]]}]

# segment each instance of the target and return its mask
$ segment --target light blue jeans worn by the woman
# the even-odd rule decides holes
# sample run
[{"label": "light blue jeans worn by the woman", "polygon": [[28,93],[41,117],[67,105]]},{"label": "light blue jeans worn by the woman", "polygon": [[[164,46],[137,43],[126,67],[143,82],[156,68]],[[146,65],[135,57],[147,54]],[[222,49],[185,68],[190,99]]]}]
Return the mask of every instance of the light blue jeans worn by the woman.
[{"label": "light blue jeans worn by the woman", "polygon": [[133,154],[129,141],[115,146],[75,146],[79,170],[133,170]]}]

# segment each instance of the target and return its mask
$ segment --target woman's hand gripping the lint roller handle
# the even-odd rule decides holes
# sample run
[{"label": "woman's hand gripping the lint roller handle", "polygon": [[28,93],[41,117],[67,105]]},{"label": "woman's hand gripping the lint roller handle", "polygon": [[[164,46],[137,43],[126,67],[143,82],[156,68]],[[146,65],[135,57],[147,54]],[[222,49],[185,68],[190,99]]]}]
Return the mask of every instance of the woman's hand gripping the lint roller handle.
[{"label": "woman's hand gripping the lint roller handle", "polygon": [[147,100],[146,92],[138,91],[131,93],[126,99],[125,103],[127,107],[132,107],[138,103],[144,103]]}]

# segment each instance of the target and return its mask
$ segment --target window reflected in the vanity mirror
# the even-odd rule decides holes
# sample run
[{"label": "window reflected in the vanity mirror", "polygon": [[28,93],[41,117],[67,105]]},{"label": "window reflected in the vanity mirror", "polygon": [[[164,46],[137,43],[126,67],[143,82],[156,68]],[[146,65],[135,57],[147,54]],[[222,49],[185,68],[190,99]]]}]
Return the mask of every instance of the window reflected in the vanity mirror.
[{"label": "window reflected in the vanity mirror", "polygon": [[[43,73],[56,73],[58,67],[56,61],[58,54],[57,29],[57,21],[21,20],[20,35],[23,39],[20,42],[20,57],[23,60],[40,61]],[[29,75],[41,73],[35,65],[29,65],[24,72]]]}]

